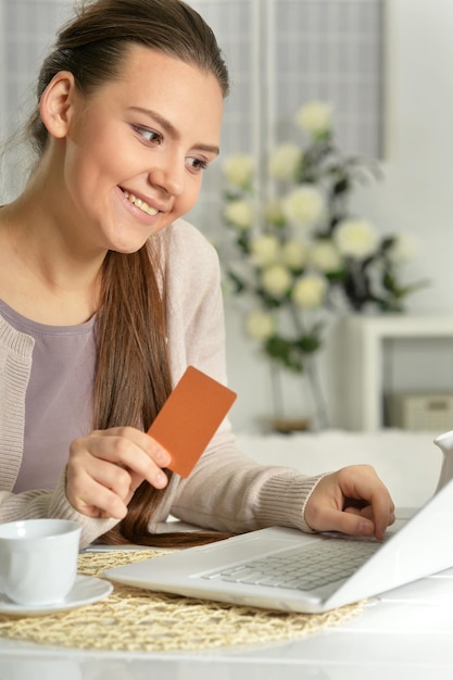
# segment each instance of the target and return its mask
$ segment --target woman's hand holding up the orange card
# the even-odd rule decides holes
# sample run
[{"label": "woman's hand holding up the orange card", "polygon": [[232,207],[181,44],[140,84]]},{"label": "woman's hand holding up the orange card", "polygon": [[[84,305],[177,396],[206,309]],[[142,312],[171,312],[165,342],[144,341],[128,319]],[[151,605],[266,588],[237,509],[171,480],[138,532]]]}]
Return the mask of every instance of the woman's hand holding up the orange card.
[{"label": "woman's hand holding up the orange card", "polygon": [[162,468],[169,462],[165,449],[133,427],[95,430],[71,444],[66,496],[83,515],[122,519],[142,481],[166,487]]}]

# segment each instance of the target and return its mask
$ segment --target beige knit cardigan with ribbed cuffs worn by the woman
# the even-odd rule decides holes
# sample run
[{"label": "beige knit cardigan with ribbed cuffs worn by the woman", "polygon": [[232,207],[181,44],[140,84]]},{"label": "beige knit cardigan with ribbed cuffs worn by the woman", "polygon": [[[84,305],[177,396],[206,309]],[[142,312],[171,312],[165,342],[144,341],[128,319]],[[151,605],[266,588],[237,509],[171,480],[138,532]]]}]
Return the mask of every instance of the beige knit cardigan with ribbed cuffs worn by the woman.
[{"label": "beige knit cardigan with ribbed cuffs worn by the woman", "polygon": [[[174,383],[190,364],[226,383],[223,300],[215,250],[185,221],[158,235],[166,245],[168,343]],[[81,525],[87,545],[115,525],[77,513],[65,495],[64,470],[54,491],[14,494],[21,466],[25,393],[34,340],[0,316],[0,521],[62,517]],[[276,452],[277,457],[277,452]],[[305,531],[304,505],[320,477],[266,467],[236,448],[226,419],[188,479],[174,475],[150,527],[169,514],[203,528],[244,532],[281,525]]]}]

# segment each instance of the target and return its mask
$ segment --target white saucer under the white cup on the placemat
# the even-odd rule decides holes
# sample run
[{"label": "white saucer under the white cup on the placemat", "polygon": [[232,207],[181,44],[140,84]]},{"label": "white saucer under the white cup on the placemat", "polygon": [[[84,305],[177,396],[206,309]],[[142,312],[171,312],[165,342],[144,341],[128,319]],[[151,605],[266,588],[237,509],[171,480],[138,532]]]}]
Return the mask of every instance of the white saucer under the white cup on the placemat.
[{"label": "white saucer under the white cup on the placemat", "polygon": [[17,604],[11,602],[4,593],[0,593],[0,614],[13,614],[15,616],[42,616],[55,614],[65,609],[74,609],[86,604],[91,604],[102,597],[106,597],[113,590],[112,583],[91,576],[77,576],[73,589],[61,602],[53,604]]}]

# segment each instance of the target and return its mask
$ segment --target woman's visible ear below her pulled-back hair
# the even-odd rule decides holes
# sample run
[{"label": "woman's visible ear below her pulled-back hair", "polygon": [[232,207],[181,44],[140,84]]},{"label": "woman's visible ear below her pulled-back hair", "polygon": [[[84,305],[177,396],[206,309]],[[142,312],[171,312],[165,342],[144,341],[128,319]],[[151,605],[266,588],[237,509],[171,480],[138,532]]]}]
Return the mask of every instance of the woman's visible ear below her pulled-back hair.
[{"label": "woman's visible ear below her pulled-back hair", "polygon": [[49,135],[59,139],[67,134],[75,98],[75,79],[70,71],[53,76],[39,101],[39,113]]}]

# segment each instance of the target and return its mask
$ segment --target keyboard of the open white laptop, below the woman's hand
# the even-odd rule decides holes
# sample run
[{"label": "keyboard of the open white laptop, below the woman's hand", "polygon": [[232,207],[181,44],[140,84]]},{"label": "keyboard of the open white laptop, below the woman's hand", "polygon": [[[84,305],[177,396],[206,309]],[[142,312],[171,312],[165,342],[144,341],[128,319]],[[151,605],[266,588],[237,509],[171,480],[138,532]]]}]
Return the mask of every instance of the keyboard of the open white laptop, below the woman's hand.
[{"label": "keyboard of the open white laptop, below the woman's hand", "polygon": [[203,575],[237,583],[312,590],[345,579],[380,547],[377,541],[326,540]]}]

